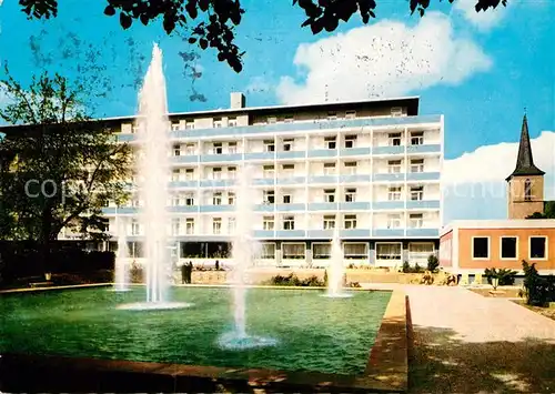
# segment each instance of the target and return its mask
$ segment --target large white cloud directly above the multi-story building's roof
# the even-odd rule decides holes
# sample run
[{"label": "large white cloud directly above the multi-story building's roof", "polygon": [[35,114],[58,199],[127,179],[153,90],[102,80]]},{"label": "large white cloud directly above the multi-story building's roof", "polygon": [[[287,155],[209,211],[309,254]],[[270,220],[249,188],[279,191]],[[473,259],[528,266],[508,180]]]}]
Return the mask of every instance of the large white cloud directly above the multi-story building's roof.
[{"label": "large white cloud directly above the multi-story building's roof", "polygon": [[470,39],[455,37],[447,16],[428,12],[415,27],[382,20],[303,43],[294,64],[306,78],[297,83],[282,77],[276,94],[287,104],[398,97],[458,84],[488,70],[492,60]]}]

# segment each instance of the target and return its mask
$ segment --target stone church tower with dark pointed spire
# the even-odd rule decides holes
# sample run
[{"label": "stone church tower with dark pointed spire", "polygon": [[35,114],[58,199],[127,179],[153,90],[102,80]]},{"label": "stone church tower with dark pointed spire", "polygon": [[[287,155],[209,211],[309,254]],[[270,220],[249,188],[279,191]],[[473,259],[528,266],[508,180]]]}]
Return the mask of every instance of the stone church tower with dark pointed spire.
[{"label": "stone church tower with dark pointed spire", "polygon": [[544,212],[544,174],[534,164],[529,143],[528,121],[524,114],[516,168],[508,182],[508,219],[526,219]]}]

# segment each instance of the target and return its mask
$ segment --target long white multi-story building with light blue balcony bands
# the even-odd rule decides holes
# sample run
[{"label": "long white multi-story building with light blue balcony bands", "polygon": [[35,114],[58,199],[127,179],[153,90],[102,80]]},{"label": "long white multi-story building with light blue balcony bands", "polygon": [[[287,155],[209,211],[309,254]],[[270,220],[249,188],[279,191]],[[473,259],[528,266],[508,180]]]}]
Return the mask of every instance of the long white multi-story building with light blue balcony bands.
[{"label": "long white multi-story building with light blue balcony bands", "polygon": [[[235,176],[254,168],[254,238],[268,264],[325,265],[333,229],[355,264],[425,263],[442,224],[443,115],[418,115],[418,98],[170,114],[172,212],[182,259],[225,257],[235,223]],[[112,119],[133,143],[133,118]],[[104,210],[127,218],[141,256],[133,199]],[[119,220],[120,220],[119,219]]]}]

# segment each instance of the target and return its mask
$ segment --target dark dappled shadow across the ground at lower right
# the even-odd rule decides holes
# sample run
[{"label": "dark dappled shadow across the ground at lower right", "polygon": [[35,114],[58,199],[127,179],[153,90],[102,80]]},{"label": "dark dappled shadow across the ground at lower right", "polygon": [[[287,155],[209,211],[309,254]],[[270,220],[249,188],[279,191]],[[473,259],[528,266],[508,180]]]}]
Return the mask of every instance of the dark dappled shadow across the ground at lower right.
[{"label": "dark dappled shadow across the ground at lower right", "polygon": [[555,392],[555,339],[465,342],[451,329],[413,325],[410,304],[407,329],[410,393]]}]

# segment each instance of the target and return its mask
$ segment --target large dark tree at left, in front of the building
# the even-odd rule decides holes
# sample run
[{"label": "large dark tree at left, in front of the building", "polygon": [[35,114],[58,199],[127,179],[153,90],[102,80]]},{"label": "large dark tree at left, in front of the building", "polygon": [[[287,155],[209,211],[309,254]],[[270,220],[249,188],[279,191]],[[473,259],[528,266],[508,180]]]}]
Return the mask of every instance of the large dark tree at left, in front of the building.
[{"label": "large dark tree at left, in front of the building", "polygon": [[105,238],[101,209],[107,200],[128,198],[131,150],[105,124],[90,121],[85,87],[44,72],[24,88],[7,67],[6,75],[0,89],[10,101],[0,118],[18,128],[7,129],[0,142],[0,205],[7,216],[0,238],[37,240],[48,269],[62,229]]}]

